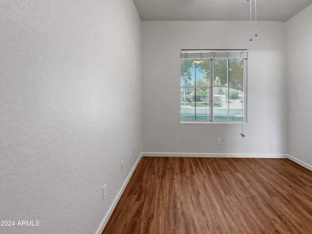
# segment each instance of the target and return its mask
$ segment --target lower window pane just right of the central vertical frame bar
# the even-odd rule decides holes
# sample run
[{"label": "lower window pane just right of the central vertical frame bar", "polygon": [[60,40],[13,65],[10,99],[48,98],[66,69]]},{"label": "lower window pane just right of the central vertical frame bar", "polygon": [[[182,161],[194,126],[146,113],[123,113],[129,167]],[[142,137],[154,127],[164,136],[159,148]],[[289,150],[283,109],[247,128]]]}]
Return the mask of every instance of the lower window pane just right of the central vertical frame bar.
[{"label": "lower window pane just right of the central vertical frame bar", "polygon": [[228,88],[214,88],[214,121],[228,121]]}]

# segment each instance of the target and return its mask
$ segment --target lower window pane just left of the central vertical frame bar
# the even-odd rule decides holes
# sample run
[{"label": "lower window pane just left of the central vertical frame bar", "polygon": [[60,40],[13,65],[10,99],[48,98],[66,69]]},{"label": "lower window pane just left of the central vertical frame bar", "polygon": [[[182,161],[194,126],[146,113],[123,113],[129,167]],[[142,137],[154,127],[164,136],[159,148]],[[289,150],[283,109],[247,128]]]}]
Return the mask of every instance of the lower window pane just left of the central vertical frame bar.
[{"label": "lower window pane just left of the central vertical frame bar", "polygon": [[208,88],[196,88],[196,120],[210,120],[210,94]]}]

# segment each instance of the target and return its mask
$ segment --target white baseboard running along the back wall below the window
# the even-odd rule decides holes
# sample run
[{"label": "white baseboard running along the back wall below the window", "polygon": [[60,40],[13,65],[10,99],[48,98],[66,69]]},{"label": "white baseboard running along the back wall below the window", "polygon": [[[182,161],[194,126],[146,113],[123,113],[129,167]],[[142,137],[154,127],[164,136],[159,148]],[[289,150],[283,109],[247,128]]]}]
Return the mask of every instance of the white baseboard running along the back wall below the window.
[{"label": "white baseboard running along the back wall below the window", "polygon": [[166,153],[143,152],[142,156],[154,157],[245,157],[245,158],[288,158],[287,154],[218,154],[218,153]]}]

